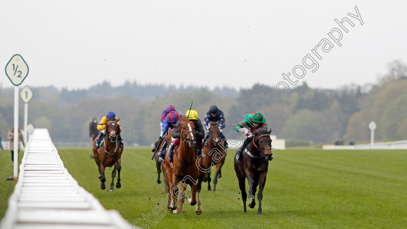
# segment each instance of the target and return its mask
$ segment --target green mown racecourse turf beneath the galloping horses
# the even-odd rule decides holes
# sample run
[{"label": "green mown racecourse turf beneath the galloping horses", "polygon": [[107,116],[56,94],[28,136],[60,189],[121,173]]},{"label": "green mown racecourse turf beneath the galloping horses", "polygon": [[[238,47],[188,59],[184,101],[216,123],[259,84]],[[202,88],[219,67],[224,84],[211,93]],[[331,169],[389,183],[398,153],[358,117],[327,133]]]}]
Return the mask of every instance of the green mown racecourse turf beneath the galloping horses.
[{"label": "green mown racecourse turf beneath the galloping horses", "polygon": [[[156,219],[152,210],[167,199],[163,184],[156,182],[150,148],[125,148],[122,188],[110,193],[100,189],[97,166],[89,158],[90,148],[58,151],[69,173],[106,209],[118,210],[130,224],[140,218],[137,225],[146,224],[150,229],[395,229],[407,225],[407,150],[274,150],[263,193],[263,216],[258,216],[257,196],[254,209],[247,207],[248,212],[243,213],[232,149],[217,191],[208,191],[207,183],[203,183],[202,215],[196,215],[195,206],[186,201],[183,213],[174,215],[166,210],[161,219]],[[9,154],[1,151],[1,174],[12,175]],[[110,173],[107,168],[107,188]],[[3,181],[1,185],[1,217],[14,184],[15,181]],[[148,213],[157,223],[155,226],[143,220],[142,214]]]}]

